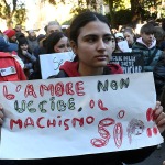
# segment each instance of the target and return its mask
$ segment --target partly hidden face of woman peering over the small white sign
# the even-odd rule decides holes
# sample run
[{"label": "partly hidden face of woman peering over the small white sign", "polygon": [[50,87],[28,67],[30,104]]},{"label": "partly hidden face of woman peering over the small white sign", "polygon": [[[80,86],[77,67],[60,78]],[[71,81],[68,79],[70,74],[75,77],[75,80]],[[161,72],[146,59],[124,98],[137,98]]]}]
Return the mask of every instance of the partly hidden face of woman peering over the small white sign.
[{"label": "partly hidden face of woman peering over the small white sign", "polygon": [[56,53],[68,52],[70,51],[70,45],[66,36],[62,37],[57,44],[54,46]]}]

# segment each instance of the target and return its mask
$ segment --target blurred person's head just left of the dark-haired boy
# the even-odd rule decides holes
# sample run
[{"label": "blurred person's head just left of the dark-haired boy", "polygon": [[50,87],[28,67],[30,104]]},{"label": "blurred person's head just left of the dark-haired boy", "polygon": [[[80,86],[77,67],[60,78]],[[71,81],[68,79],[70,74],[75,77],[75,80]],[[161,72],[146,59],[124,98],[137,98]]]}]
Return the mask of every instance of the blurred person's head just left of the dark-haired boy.
[{"label": "blurred person's head just left of the dark-haired boy", "polygon": [[123,31],[123,35],[124,35],[124,38],[129,43],[129,47],[132,48],[132,45],[135,42],[135,34],[133,32],[133,29],[132,28],[125,28]]}]

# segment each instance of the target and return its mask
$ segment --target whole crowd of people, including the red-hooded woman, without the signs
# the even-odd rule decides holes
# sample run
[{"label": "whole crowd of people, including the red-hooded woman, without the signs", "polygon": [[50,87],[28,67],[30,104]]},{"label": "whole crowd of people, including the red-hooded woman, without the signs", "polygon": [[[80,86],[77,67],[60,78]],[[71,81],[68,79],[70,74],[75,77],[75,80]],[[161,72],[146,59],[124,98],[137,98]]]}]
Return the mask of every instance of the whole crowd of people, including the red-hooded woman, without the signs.
[{"label": "whole crowd of people, including the red-hooded woman, without the signs", "polygon": [[[45,26],[45,34],[36,36],[34,31],[29,31],[26,36],[22,33],[21,25],[18,24],[15,29],[7,30],[1,33],[0,54],[2,54],[4,58],[7,56],[10,61],[12,58],[15,65],[19,66],[14,74],[22,76],[15,76],[14,79],[12,79],[11,76],[13,77],[14,74],[11,73],[7,75],[8,78],[0,76],[0,79],[1,77],[1,81],[41,79],[40,55],[69,51],[74,52],[75,59],[73,62],[65,62],[64,65],[61,66],[59,73],[51,76],[51,78],[123,74],[120,65],[110,63],[110,57],[113,52],[124,52],[119,44],[124,41],[128,43],[129,52],[143,52],[144,72],[155,73],[157,100],[161,100],[165,88],[165,77],[163,77],[163,75],[165,75],[164,31],[164,24],[162,24],[162,26],[155,26],[153,22],[147,22],[141,28],[140,34],[135,34],[131,26],[123,26],[121,30],[113,32],[106,16],[90,11],[76,16],[69,29],[65,32],[63,32],[58,22],[51,21]],[[7,62],[6,66],[0,67],[10,67],[10,65],[11,63]],[[19,72],[21,72],[21,74],[19,74]],[[160,79],[156,76],[160,76]],[[163,105],[164,101],[157,101],[155,105],[155,122],[160,132],[163,133],[165,130],[165,113],[163,112],[161,103]],[[6,105],[2,106],[4,107]],[[3,118],[6,117],[1,108],[1,124]],[[156,147],[157,146],[150,146],[139,150],[61,158],[14,161],[11,164],[73,165],[79,162],[86,162],[94,165],[122,165],[122,163],[138,163],[143,161],[153,153]]]}]

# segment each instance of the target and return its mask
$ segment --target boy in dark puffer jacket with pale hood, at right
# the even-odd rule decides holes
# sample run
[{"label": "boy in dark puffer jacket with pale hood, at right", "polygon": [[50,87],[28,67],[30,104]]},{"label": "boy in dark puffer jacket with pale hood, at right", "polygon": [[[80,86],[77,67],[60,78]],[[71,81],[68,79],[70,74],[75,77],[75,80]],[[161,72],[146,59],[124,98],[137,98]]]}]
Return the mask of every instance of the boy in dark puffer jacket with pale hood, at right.
[{"label": "boy in dark puffer jacket with pale hood, at right", "polygon": [[155,65],[163,56],[163,52],[156,47],[154,37],[155,28],[146,23],[141,28],[141,37],[132,45],[132,52],[143,52],[144,72],[153,72]]}]

